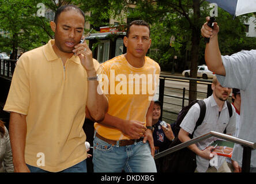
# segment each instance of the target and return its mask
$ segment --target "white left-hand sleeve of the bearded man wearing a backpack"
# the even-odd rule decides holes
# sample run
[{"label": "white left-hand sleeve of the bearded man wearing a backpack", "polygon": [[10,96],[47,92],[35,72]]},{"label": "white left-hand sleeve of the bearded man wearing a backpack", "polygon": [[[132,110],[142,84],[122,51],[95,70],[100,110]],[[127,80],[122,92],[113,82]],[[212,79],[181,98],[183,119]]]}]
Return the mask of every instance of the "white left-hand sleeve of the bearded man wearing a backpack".
[{"label": "white left-hand sleeve of the bearded man wearing a backpack", "polygon": [[184,117],[182,123],[180,124],[180,128],[192,134],[195,129],[195,124],[200,116],[200,106],[198,103],[191,106],[189,112],[187,112]]}]

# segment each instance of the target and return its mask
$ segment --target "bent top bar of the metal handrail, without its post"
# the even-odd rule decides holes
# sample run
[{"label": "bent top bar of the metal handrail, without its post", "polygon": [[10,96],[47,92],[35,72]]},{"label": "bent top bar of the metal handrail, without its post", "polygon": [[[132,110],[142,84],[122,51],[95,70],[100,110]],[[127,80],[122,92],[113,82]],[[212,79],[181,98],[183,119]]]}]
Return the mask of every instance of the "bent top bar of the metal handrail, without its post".
[{"label": "bent top bar of the metal handrail, without its post", "polygon": [[167,150],[164,150],[164,151],[156,154],[155,155],[155,160],[159,159],[159,158],[161,158],[165,155],[171,154],[172,152],[181,150],[182,148],[186,148],[191,144],[194,144],[194,143],[197,143],[199,141],[208,139],[209,137],[212,137],[212,136],[218,137],[220,139],[225,139],[225,140],[228,140],[228,141],[231,141],[231,142],[234,142],[234,143],[238,143],[238,144],[241,144],[243,146],[246,146],[246,147],[249,147],[249,148],[252,148],[252,149],[256,148],[256,143],[253,143],[253,142],[250,142],[250,141],[247,141],[247,140],[243,140],[243,139],[239,139],[239,138],[234,137],[234,136],[229,136],[229,135],[226,135],[224,133],[210,131],[209,133],[205,133],[202,136],[195,137],[195,138],[193,138],[189,141],[186,141],[185,143],[175,145],[172,148],[168,148]]}]

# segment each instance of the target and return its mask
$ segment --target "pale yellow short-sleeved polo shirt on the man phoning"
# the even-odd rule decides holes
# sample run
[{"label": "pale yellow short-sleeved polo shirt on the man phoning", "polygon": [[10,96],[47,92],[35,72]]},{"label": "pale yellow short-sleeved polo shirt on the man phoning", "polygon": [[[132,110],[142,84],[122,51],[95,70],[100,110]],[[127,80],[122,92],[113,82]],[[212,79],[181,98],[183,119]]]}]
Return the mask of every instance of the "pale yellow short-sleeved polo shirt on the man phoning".
[{"label": "pale yellow short-sleeved polo shirt on the man phoning", "polygon": [[[27,115],[25,162],[58,172],[87,158],[82,125],[88,83],[79,57],[64,67],[52,44],[20,57],[4,110]],[[93,63],[99,74],[99,63]]]}]

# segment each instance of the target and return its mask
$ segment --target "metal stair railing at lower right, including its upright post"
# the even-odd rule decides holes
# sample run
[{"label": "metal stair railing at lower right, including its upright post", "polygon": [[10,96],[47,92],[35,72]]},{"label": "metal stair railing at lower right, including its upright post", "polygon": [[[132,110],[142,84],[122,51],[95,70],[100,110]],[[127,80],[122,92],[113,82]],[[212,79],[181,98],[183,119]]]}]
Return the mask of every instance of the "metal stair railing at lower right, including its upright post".
[{"label": "metal stair railing at lower right, including its upright post", "polygon": [[168,148],[167,150],[156,154],[155,155],[155,160],[159,159],[163,156],[166,156],[168,154],[171,154],[172,152],[175,152],[175,151],[181,150],[183,148],[186,148],[191,144],[195,144],[195,143],[198,143],[199,141],[208,139],[209,137],[212,137],[212,136],[242,145],[243,146],[242,173],[249,173],[250,172],[251,151],[256,148],[256,143],[253,143],[253,142],[250,142],[250,141],[247,141],[247,140],[243,140],[243,139],[239,139],[239,138],[234,137],[234,136],[229,136],[229,135],[226,135],[224,133],[214,132],[214,131],[206,133],[202,136],[195,137],[195,138],[193,138],[189,141],[186,141],[185,143],[175,145],[172,148]]}]

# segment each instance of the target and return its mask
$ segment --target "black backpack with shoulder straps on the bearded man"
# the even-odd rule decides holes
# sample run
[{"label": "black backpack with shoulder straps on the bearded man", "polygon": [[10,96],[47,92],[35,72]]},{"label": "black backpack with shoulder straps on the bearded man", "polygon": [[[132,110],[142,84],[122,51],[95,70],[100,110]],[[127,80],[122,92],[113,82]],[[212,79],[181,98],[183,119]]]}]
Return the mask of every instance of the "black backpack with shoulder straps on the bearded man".
[{"label": "black backpack with shoulder straps on the bearded man", "polygon": [[[203,100],[194,100],[190,102],[190,104],[182,108],[182,110],[180,110],[178,114],[178,117],[174,126],[175,139],[172,141],[172,143],[170,143],[168,148],[172,148],[175,145],[182,143],[178,139],[178,134],[180,130],[179,125],[183,121],[187,112],[189,112],[189,109],[191,108],[191,106],[193,106],[195,103],[198,103],[200,106],[200,114],[195,124],[195,129],[197,129],[197,127],[202,124],[202,121],[204,121],[205,113],[206,113],[205,102]],[[230,118],[232,116],[232,106],[228,101],[227,101],[227,106],[228,106],[228,112],[229,112],[229,118]],[[193,133],[189,135],[190,139],[193,139],[193,134],[195,132],[195,129]],[[195,153],[189,150],[189,148],[187,147],[181,150],[172,152],[171,154],[168,154],[160,158],[159,162],[161,163],[159,167],[159,171],[161,173],[194,173],[195,168],[197,167],[197,162],[195,160]]]}]

